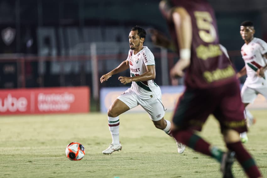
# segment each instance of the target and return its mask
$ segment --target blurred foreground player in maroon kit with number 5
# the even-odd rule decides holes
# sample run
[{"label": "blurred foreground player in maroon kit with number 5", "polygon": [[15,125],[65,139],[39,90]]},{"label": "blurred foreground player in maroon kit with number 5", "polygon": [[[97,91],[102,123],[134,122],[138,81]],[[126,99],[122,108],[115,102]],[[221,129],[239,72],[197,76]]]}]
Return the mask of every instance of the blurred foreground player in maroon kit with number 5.
[{"label": "blurred foreground player in maroon kit with number 5", "polygon": [[[232,162],[237,160],[249,177],[261,177],[254,159],[240,142],[247,131],[244,105],[235,70],[219,45],[213,8],[205,0],[161,1],[160,9],[169,25],[180,60],[172,77],[185,75],[186,90],[179,98],[172,120],[172,135],[192,149],[221,163],[223,177],[233,177]],[[211,146],[194,131],[201,131],[207,117],[214,114],[221,126],[228,153]]]}]

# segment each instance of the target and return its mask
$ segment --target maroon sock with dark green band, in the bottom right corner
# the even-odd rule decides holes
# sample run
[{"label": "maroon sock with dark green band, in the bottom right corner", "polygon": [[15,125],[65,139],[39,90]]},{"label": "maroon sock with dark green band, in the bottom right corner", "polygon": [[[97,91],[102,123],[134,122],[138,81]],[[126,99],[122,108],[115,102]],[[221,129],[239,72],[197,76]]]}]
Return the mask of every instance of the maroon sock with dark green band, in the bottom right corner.
[{"label": "maroon sock with dark green band, in the bottom right corner", "polygon": [[236,152],[236,159],[241,164],[248,177],[257,178],[261,177],[258,167],[254,159],[250,156],[248,151],[243,147],[241,142],[227,143],[227,148]]}]

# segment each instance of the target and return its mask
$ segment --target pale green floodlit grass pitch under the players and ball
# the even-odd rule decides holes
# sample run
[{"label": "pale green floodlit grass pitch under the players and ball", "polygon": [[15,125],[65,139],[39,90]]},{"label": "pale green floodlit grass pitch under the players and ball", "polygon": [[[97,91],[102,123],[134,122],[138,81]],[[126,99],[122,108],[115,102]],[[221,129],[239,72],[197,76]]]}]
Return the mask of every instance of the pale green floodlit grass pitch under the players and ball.
[{"label": "pale green floodlit grass pitch under the players and ball", "polygon": [[[261,172],[267,176],[267,111],[252,111],[257,123],[245,144]],[[171,118],[167,113],[166,119]],[[217,178],[220,164],[187,148],[177,153],[174,140],[154,127],[146,113],[120,116],[122,151],[103,155],[111,142],[106,114],[66,114],[0,117],[0,177],[92,178]],[[218,123],[210,117],[200,133],[225,150]],[[70,142],[85,147],[81,161],[70,161],[65,147]],[[233,165],[236,178],[241,167]]]}]

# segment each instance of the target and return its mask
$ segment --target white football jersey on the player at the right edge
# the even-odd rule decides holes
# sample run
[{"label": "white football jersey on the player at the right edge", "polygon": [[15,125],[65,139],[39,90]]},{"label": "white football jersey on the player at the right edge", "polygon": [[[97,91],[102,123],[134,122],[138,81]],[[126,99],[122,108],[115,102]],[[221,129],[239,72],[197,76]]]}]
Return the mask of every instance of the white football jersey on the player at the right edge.
[{"label": "white football jersey on the player at the right edge", "polygon": [[265,53],[267,53],[267,43],[259,38],[254,37],[251,42],[242,46],[241,54],[247,70],[244,85],[250,88],[267,87],[267,70],[264,72],[264,78],[257,75],[257,70],[267,64],[266,58],[262,56]]}]

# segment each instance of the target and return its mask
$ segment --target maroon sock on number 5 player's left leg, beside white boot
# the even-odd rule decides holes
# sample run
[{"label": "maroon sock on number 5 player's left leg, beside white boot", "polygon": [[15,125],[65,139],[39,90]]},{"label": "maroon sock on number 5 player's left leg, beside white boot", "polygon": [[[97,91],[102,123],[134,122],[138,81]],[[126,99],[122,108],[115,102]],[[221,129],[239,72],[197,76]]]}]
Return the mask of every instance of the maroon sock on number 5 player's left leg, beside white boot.
[{"label": "maroon sock on number 5 player's left leg, beside white boot", "polygon": [[195,151],[212,156],[209,150],[210,144],[194,134],[191,130],[172,131],[171,134],[178,142],[182,142]]}]

